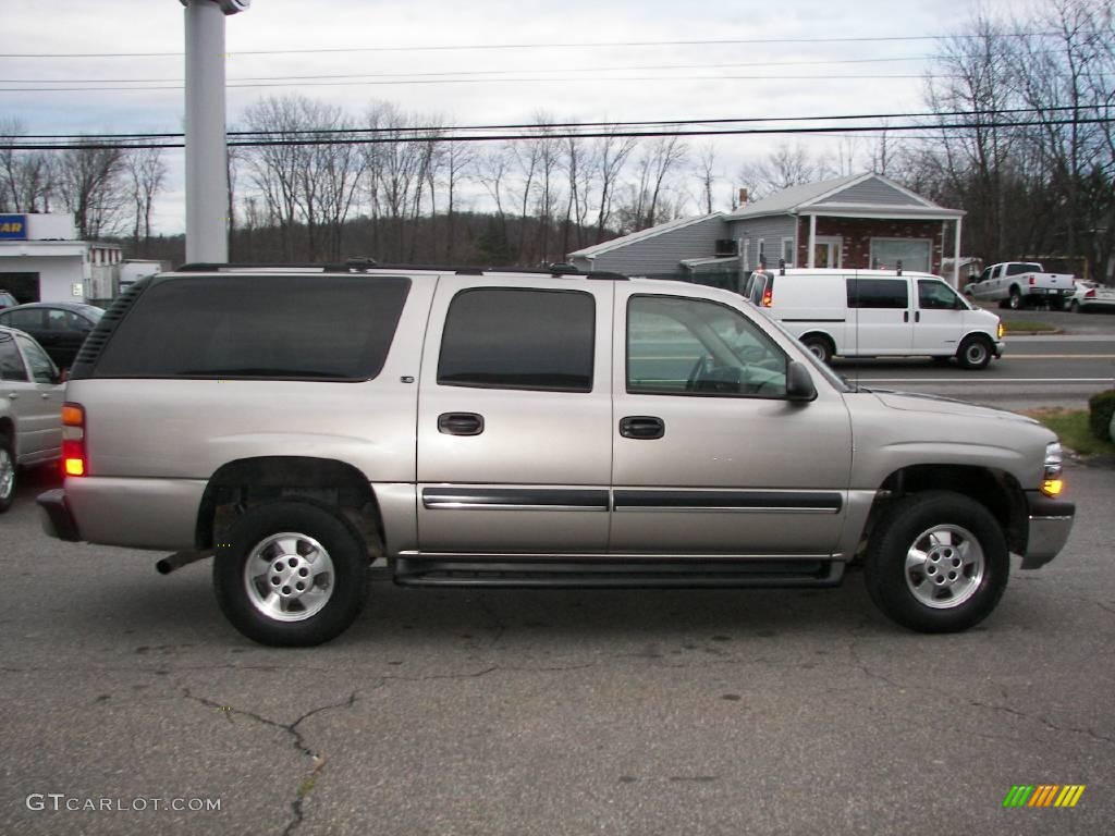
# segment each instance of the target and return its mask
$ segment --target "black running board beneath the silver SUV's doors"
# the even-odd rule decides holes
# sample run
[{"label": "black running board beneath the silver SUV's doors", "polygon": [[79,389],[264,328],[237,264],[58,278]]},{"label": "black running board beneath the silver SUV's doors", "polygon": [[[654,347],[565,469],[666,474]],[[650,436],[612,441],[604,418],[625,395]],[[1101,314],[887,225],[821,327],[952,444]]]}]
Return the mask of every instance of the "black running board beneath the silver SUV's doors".
[{"label": "black running board beneath the silver SUV's doors", "polygon": [[834,560],[627,558],[623,561],[398,557],[400,586],[556,589],[698,589],[709,586],[836,586],[844,562]]}]

